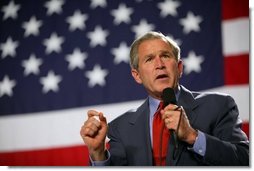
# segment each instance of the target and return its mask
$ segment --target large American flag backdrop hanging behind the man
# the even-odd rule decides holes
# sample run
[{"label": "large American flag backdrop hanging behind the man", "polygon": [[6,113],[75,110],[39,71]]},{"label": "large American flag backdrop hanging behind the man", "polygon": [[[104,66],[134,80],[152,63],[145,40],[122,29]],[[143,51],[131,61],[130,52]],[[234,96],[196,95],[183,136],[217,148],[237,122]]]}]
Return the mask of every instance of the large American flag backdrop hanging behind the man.
[{"label": "large American flag backdrop hanging behind the man", "polygon": [[110,122],[147,94],[129,48],[147,31],[181,47],[181,84],[234,97],[249,121],[247,0],[1,0],[0,165],[88,165],[88,109]]}]

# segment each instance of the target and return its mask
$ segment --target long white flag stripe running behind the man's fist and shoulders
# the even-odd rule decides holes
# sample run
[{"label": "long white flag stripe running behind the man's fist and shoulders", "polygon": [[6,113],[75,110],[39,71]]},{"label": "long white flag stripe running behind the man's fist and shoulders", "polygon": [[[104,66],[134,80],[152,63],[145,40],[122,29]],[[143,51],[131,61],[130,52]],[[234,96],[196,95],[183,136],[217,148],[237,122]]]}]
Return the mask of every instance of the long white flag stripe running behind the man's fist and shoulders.
[{"label": "long white flag stripe running behind the man's fist and shoulders", "polygon": [[[210,89],[232,95],[244,121],[249,121],[249,86],[232,86]],[[143,100],[118,104],[89,106],[45,113],[6,116],[0,118],[0,151],[18,151],[83,144],[80,127],[86,112],[96,109],[110,122],[119,114],[138,107]]]}]

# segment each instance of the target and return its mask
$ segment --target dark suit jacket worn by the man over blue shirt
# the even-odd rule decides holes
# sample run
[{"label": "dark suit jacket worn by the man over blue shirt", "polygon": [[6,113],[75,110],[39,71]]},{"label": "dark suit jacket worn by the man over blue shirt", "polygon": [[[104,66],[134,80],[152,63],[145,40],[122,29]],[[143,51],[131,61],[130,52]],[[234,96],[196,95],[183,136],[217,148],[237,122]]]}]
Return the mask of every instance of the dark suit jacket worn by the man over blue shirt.
[{"label": "dark suit jacket worn by the man over blue shirt", "polygon": [[[167,165],[249,165],[249,141],[240,129],[238,109],[230,96],[190,92],[181,86],[178,105],[185,109],[192,127],[205,133],[206,153],[202,157],[181,141],[174,151],[169,141]],[[148,99],[137,110],[113,120],[108,132],[110,165],[153,165],[149,130]]]}]

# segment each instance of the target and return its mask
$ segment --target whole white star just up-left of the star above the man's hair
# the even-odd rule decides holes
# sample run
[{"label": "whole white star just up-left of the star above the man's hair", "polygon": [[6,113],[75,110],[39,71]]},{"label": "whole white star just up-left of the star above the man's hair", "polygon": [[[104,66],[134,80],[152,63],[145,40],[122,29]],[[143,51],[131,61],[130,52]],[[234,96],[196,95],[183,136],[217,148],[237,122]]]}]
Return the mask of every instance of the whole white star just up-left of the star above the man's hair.
[{"label": "whole white star just up-left of the star above the man's hair", "polygon": [[132,8],[127,8],[125,4],[120,4],[118,9],[112,10],[111,15],[114,16],[114,23],[119,25],[121,22],[130,23],[130,15],[133,13]]}]

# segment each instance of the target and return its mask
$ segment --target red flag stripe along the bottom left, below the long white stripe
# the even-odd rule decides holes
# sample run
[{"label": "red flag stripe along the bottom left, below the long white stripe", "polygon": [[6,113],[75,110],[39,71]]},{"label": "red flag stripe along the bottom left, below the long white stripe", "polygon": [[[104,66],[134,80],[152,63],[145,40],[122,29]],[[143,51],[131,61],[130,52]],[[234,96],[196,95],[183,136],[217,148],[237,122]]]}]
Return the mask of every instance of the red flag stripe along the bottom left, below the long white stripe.
[{"label": "red flag stripe along the bottom left, below the long white stripe", "polygon": [[0,165],[5,166],[87,166],[85,145],[0,153]]}]

